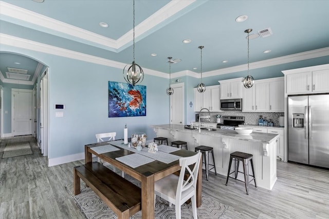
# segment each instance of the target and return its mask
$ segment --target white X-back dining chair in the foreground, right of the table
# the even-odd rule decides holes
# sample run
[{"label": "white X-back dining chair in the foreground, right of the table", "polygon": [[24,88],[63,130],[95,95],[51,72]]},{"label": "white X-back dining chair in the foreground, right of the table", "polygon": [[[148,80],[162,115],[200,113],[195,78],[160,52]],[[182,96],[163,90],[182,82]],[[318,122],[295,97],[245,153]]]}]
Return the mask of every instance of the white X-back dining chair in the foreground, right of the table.
[{"label": "white X-back dining chair in the foreground, right of the table", "polygon": [[[189,157],[181,157],[179,159],[179,166],[181,166],[179,176],[170,174],[159,181],[154,183],[154,197],[160,196],[167,200],[171,205],[175,205],[176,218],[181,218],[181,205],[191,198],[192,210],[194,219],[196,215],[196,181],[200,165],[201,153]],[[193,165],[190,169],[190,165]],[[189,177],[184,180],[185,174],[188,173]],[[155,203],[155,200],[154,200]]]}]

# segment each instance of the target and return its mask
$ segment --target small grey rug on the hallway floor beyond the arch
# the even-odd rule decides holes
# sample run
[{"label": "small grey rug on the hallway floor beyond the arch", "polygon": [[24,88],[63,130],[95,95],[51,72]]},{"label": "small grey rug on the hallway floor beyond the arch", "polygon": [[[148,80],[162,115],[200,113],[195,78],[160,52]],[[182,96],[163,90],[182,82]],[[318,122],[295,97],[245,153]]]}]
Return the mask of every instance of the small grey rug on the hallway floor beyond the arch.
[{"label": "small grey rug on the hallway floor beyond the arch", "polygon": [[28,154],[32,154],[29,142],[8,143],[5,147],[2,158],[23,156]]}]

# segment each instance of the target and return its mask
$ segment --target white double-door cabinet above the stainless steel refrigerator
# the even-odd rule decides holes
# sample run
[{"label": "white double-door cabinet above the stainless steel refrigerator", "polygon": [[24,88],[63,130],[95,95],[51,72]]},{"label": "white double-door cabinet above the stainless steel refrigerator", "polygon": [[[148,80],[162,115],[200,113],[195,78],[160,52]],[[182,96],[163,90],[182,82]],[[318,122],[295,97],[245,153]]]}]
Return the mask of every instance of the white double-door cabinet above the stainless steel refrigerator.
[{"label": "white double-door cabinet above the stainless steel refrigerator", "polygon": [[287,94],[329,92],[329,64],[282,71]]}]

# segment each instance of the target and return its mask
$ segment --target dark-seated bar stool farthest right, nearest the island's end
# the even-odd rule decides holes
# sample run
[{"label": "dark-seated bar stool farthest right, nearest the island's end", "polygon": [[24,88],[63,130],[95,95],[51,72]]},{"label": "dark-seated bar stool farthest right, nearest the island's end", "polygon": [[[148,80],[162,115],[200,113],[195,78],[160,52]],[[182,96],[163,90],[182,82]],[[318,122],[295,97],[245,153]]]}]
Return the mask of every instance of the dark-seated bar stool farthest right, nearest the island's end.
[{"label": "dark-seated bar stool farthest right, nearest the island's end", "polygon": [[[230,173],[231,164],[232,164],[233,159],[234,159],[234,163],[235,163],[235,168],[234,168],[234,171]],[[234,178],[236,180],[237,173],[240,172],[239,171],[240,161],[242,161],[242,164],[243,164],[243,174],[245,176],[245,186],[246,186],[246,191],[247,191],[247,195],[248,195],[249,194],[249,183],[252,180],[255,183],[255,187],[257,187],[255,173],[253,171],[252,154],[243,153],[243,152],[239,152],[239,151],[235,151],[235,152],[231,153],[231,155],[230,155],[230,164],[228,166],[228,172],[227,172],[226,186],[227,186],[227,183],[228,183],[228,178],[229,177],[233,178],[233,177],[230,176],[230,174],[234,173]],[[250,164],[251,164],[252,175],[249,175],[249,161],[250,161]],[[242,173],[242,172],[240,172],[240,173]],[[252,176],[252,179],[250,181],[249,181],[249,176]]]}]

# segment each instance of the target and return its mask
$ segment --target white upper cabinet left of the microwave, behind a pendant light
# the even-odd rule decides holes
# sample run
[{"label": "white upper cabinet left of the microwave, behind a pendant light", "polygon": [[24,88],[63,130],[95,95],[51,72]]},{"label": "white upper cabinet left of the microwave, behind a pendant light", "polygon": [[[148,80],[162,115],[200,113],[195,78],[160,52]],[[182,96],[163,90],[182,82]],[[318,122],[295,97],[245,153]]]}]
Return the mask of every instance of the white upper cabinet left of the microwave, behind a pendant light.
[{"label": "white upper cabinet left of the microwave, behind a pendant light", "polygon": [[220,86],[208,86],[206,91],[199,93],[194,88],[194,111],[198,112],[202,108],[207,108],[211,112],[220,112]]}]

